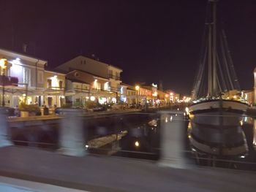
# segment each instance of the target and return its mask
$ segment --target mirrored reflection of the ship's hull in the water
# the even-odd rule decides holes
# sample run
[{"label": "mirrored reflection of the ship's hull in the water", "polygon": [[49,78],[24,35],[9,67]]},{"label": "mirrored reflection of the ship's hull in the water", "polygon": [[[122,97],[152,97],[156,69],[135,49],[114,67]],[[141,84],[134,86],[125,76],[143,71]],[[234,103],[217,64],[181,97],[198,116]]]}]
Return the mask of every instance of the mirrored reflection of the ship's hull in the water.
[{"label": "mirrored reflection of the ship's hull in the water", "polygon": [[198,153],[217,156],[246,155],[248,146],[241,126],[189,123],[189,141]]}]

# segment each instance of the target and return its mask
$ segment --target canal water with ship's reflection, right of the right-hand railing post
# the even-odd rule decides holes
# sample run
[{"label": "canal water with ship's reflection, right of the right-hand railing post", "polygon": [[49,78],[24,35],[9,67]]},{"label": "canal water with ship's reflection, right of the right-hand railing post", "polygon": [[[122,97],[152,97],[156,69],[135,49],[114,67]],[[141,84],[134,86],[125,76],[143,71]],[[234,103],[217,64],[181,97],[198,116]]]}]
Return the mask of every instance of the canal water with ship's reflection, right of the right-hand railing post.
[{"label": "canal water with ship's reflection, right of the right-hand railing post", "polygon": [[191,120],[188,140],[199,165],[256,171],[254,118],[241,117],[236,125],[219,127]]}]

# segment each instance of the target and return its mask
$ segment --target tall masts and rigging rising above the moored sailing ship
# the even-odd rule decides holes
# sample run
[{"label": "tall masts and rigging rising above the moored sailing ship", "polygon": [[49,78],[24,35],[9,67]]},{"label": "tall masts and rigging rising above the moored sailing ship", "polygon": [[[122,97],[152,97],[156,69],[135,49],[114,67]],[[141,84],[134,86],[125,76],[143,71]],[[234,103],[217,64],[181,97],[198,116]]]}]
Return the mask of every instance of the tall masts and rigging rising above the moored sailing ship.
[{"label": "tall masts and rigging rising above the moored sailing ship", "polygon": [[240,90],[227,38],[217,26],[217,2],[208,0],[206,7],[206,26],[204,28],[199,70],[193,87],[193,98],[203,96],[208,99],[218,96],[222,91]]}]

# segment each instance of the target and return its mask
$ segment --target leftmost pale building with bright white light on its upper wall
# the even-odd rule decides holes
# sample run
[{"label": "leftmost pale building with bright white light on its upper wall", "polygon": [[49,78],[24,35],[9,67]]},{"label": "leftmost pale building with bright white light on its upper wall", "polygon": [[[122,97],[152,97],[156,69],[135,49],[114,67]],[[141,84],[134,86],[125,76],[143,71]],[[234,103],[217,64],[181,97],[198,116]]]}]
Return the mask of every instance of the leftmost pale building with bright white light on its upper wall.
[{"label": "leftmost pale building with bright white light on its upper wall", "polygon": [[15,107],[20,101],[42,101],[47,61],[4,49],[0,49],[0,58],[7,59],[7,66],[0,70],[1,105]]}]

